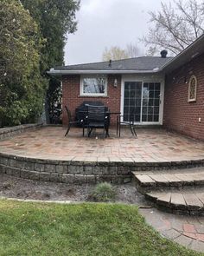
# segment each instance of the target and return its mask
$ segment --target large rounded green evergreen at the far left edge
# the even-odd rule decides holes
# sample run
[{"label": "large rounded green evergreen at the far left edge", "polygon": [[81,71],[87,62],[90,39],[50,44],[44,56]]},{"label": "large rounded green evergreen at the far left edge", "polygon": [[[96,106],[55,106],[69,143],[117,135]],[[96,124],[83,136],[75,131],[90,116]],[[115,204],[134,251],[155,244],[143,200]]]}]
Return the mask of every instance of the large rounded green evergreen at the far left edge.
[{"label": "large rounded green evergreen at the far left edge", "polygon": [[16,0],[0,1],[0,127],[35,121],[41,114],[46,82],[38,26]]}]

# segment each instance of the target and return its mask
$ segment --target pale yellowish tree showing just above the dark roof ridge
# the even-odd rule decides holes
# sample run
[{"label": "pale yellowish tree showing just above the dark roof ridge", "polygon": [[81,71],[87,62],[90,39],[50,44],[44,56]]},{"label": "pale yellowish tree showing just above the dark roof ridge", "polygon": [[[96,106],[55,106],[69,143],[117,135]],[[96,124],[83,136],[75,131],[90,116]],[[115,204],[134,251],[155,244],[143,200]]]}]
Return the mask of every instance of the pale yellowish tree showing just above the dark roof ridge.
[{"label": "pale yellowish tree showing just above the dark roof ridge", "polygon": [[105,48],[102,59],[107,62],[109,60],[116,61],[127,58],[134,58],[140,55],[140,49],[137,44],[128,43],[125,49],[118,46],[112,46],[110,49]]}]

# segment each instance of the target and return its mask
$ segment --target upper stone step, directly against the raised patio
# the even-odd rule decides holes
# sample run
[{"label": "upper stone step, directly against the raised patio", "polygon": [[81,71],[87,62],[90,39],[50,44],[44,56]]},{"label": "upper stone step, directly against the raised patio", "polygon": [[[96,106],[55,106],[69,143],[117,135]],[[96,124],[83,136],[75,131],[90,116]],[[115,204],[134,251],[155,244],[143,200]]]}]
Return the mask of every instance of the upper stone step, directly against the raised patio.
[{"label": "upper stone step, directly against the raised patio", "polygon": [[145,194],[167,187],[204,187],[204,167],[171,171],[132,172],[137,189]]}]

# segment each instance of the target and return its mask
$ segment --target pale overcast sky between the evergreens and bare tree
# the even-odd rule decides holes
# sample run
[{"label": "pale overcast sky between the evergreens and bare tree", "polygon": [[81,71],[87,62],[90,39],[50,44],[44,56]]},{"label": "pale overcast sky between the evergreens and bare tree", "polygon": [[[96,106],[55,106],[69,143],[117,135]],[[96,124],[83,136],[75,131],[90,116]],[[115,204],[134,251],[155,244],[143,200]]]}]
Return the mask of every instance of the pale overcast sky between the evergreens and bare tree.
[{"label": "pale overcast sky between the evergreens and bare tree", "polygon": [[65,63],[100,62],[105,47],[125,48],[127,43],[137,43],[144,55],[138,38],[148,33],[148,12],[160,8],[161,0],[81,0],[78,30],[68,35]]}]

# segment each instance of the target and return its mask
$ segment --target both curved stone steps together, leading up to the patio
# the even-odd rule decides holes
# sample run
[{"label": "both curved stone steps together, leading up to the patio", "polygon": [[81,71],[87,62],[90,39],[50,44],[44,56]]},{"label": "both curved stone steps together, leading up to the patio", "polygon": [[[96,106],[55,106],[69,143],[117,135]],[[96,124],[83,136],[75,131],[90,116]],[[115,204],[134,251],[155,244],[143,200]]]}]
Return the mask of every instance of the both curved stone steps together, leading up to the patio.
[{"label": "both curved stone steps together, leading up to the patio", "polygon": [[204,167],[133,172],[137,189],[159,209],[204,216]]}]

